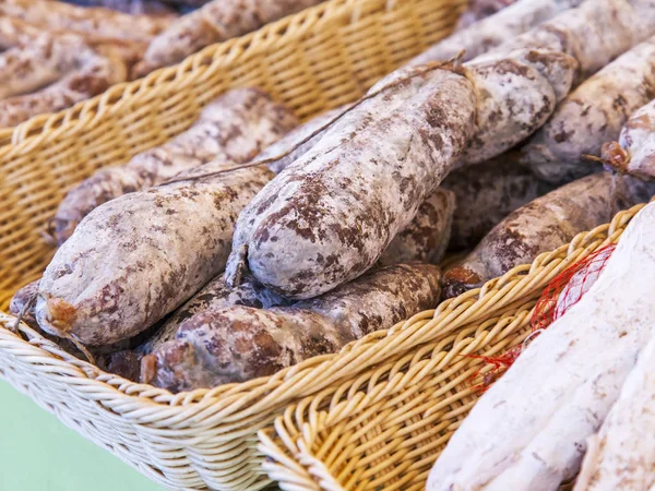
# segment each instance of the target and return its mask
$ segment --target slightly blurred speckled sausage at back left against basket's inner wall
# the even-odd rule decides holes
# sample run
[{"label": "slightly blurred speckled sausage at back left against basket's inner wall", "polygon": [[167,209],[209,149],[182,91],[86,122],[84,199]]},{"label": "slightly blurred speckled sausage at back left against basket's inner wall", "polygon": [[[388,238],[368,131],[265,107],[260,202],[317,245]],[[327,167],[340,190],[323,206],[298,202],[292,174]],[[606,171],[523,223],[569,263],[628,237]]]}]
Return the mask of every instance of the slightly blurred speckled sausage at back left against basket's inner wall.
[{"label": "slightly blurred speckled sausage at back left against basket's inner wall", "polygon": [[92,209],[117,196],[160,184],[209,160],[245,163],[297,123],[290,110],[254,88],[230,91],[206,106],[198,121],[162,146],[122,166],[98,170],[73,188],[55,218],[59,244]]}]

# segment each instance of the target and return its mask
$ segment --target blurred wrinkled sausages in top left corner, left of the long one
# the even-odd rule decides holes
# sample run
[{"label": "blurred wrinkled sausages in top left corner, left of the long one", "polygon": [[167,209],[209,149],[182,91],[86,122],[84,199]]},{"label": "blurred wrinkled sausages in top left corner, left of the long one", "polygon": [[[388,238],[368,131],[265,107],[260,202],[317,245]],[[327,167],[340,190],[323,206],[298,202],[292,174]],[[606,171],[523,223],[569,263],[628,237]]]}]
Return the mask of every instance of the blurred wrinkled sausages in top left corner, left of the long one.
[{"label": "blurred wrinkled sausages in top left corner, left of the long one", "polygon": [[0,3],[0,128],[124,82],[171,15],[130,15],[50,0]]}]

